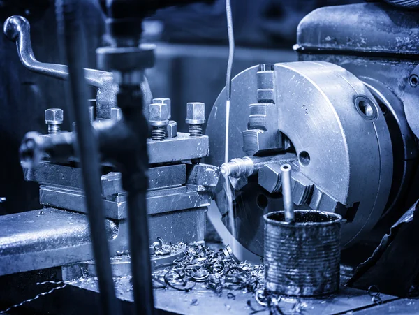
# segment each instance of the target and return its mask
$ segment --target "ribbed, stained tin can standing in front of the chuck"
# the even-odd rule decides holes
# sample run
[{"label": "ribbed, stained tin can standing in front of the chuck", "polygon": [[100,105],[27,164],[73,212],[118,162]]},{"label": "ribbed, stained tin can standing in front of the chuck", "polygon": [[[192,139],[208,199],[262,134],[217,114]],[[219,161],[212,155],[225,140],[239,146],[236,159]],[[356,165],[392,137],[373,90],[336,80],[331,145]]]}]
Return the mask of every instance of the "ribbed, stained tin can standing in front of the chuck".
[{"label": "ribbed, stained tin can standing in front of the chuck", "polygon": [[265,288],[281,295],[318,296],[339,288],[341,216],[295,210],[265,214]]}]

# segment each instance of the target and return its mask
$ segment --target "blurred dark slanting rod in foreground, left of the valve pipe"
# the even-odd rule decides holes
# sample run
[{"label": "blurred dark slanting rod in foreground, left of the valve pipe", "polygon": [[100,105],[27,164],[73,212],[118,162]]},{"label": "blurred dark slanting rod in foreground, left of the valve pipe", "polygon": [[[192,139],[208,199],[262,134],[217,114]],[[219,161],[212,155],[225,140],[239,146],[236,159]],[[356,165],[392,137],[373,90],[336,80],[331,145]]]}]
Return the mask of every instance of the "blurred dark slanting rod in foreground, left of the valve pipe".
[{"label": "blurred dark slanting rod in foreground, left of the valve pipe", "polygon": [[91,242],[93,245],[98,286],[103,314],[120,314],[112,279],[108,236],[105,230],[103,201],[101,198],[101,173],[99,171],[98,143],[94,141],[89,120],[89,101],[84,79],[84,40],[80,21],[80,0],[57,0],[57,24],[64,37],[71,106],[77,126],[78,147],[75,148],[82,166],[84,196],[87,203]]}]

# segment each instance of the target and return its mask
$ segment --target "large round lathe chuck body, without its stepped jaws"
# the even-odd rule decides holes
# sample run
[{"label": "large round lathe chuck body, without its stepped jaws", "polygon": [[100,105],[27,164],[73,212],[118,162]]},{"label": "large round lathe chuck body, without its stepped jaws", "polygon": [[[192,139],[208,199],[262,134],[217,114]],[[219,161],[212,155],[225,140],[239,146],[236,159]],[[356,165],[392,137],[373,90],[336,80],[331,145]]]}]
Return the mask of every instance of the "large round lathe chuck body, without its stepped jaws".
[{"label": "large round lathe chuck body, without its stepped jaws", "polygon": [[[348,71],[325,62],[275,64],[278,129],[295,146],[297,154],[307,151],[311,161],[300,171],[328,194],[330,200],[351,207],[359,203],[353,221],[342,227],[342,244],[355,241],[361,230],[374,226],[388,199],[392,178],[392,153],[385,119],[367,87]],[[257,103],[257,67],[243,71],[233,79],[230,108],[229,159],[244,156],[242,131],[249,121],[249,104]],[[356,97],[365,97],[375,118],[362,117],[355,108]],[[225,91],[214,103],[207,125],[212,148],[207,160],[214,165],[223,163],[225,138]],[[369,176],[365,177],[365,170]],[[246,193],[236,191],[235,217],[238,240],[260,256],[263,253],[263,233],[260,218],[265,212],[281,210],[270,205],[270,196],[257,182],[251,182]],[[249,184],[247,185],[249,186]],[[258,196],[268,199],[267,206],[258,207]],[[226,213],[225,195],[219,191],[216,202],[221,214]],[[280,204],[280,203],[279,203]],[[273,206],[273,209],[272,209]],[[335,209],[321,209],[335,211]],[[249,221],[251,220],[251,221]],[[246,222],[242,224],[242,222]]]}]

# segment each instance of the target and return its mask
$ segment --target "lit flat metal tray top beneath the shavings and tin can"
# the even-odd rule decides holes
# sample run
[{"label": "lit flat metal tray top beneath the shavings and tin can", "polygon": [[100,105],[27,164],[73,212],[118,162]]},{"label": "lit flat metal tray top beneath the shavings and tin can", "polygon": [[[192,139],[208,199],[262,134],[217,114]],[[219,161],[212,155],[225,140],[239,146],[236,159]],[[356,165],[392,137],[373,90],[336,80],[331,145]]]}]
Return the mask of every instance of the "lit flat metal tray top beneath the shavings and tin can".
[{"label": "lit flat metal tray top beneath the shavings and tin can", "polygon": [[[76,292],[81,295],[83,292],[96,291],[94,281],[89,281],[88,283],[82,283],[82,281],[80,281],[78,284],[75,284],[74,287],[80,288],[80,291]],[[131,292],[127,290],[128,288],[128,279],[120,279],[117,281],[117,292],[120,299],[131,301]],[[241,291],[228,292],[233,293],[235,298],[227,298],[227,292],[219,297],[216,293],[200,287],[199,285],[189,293],[175,290],[154,290],[154,296],[156,298],[155,305],[157,309],[185,315],[250,314],[252,311],[247,306],[247,300],[251,300],[253,307],[256,309],[261,308],[260,305],[256,303],[256,300],[251,293],[242,293]],[[391,295],[381,295],[381,299],[383,301],[390,301],[397,298]],[[194,300],[196,300],[196,302],[193,302]],[[297,299],[295,298],[284,298],[281,300],[279,306],[285,314],[293,314],[292,309],[295,307],[296,302]],[[332,315],[345,314],[346,312],[351,314],[350,312],[353,309],[362,308],[365,308],[365,314],[368,314],[368,309],[377,307],[376,304],[372,302],[372,298],[367,292],[343,287],[339,289],[337,294],[331,295],[328,298],[300,298],[300,302],[304,305],[302,307],[304,314]],[[258,312],[258,314],[270,314],[270,312],[266,309],[265,311]]]}]

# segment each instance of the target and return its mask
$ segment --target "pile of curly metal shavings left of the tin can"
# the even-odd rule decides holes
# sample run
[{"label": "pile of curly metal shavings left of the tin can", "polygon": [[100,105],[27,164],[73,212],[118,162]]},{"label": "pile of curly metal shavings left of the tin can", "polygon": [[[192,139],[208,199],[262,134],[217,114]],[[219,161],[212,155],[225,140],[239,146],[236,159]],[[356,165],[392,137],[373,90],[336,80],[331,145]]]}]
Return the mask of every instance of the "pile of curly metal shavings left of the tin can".
[{"label": "pile of curly metal shavings left of the tin can", "polygon": [[[160,240],[159,240],[160,241]],[[184,244],[168,245],[162,241],[155,244],[155,254],[174,252]],[[175,249],[169,247],[174,246]],[[192,291],[196,284],[203,284],[208,290],[221,296],[224,289],[256,292],[263,286],[263,264],[240,263],[229,246],[213,251],[203,244],[187,244],[180,258],[170,264],[155,268],[154,288],[173,288],[179,291]],[[228,293],[228,298],[235,298]]]}]

